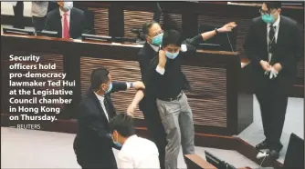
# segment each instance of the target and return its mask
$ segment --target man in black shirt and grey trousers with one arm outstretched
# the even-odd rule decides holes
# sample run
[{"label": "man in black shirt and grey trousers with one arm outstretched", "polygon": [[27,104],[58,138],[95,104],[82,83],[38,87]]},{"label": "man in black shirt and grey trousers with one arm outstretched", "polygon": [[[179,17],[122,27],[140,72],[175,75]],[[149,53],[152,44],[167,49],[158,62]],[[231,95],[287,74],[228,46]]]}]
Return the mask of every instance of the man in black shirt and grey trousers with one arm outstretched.
[{"label": "man in black shirt and grey trousers with one arm outstretched", "polygon": [[182,41],[175,30],[164,33],[162,50],[148,66],[145,84],[145,95],[153,95],[158,112],[167,134],[165,148],[165,168],[176,169],[180,145],[183,154],[195,154],[194,124],[192,110],[183,92],[184,74],[181,70],[183,55],[195,55],[196,46],[218,33],[231,31],[237,25],[229,23],[214,31],[196,35]]}]

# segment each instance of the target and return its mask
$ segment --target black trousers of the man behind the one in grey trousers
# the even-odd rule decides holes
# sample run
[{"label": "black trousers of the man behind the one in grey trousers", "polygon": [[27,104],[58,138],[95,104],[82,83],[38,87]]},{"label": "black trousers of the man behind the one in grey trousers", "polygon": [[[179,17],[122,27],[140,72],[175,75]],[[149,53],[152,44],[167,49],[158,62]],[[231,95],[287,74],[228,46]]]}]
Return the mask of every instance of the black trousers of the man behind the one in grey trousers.
[{"label": "black trousers of the man behind the one in grey trousers", "polygon": [[144,119],[147,125],[149,138],[154,144],[156,144],[158,148],[160,167],[161,169],[164,169],[165,146],[167,144],[167,141],[166,141],[166,133],[163,124],[161,123],[160,114],[158,113],[158,109],[155,104],[145,106],[142,109],[142,113],[144,114]]}]

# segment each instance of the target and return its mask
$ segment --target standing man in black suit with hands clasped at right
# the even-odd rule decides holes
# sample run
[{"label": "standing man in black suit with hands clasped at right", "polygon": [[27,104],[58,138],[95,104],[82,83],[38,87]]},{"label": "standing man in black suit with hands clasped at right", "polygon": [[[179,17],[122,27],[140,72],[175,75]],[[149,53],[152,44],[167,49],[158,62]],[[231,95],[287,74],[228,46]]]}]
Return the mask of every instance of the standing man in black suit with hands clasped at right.
[{"label": "standing man in black suit with hands clasped at right", "polygon": [[280,15],[280,2],[265,2],[260,15],[252,20],[245,51],[253,68],[255,94],[260,105],[266,140],[258,149],[269,149],[279,158],[288,94],[296,78],[297,62],[303,46],[297,23]]}]

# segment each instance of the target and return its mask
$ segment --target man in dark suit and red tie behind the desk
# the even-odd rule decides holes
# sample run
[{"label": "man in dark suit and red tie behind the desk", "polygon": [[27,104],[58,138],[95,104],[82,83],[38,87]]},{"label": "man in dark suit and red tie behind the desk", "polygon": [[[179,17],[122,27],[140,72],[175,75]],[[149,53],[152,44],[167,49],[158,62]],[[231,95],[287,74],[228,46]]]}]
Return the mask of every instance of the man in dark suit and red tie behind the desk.
[{"label": "man in dark suit and red tie behind the desk", "polygon": [[84,12],[73,7],[73,2],[58,1],[59,7],[47,13],[45,29],[58,32],[58,37],[77,39],[81,34],[90,34],[85,28]]}]

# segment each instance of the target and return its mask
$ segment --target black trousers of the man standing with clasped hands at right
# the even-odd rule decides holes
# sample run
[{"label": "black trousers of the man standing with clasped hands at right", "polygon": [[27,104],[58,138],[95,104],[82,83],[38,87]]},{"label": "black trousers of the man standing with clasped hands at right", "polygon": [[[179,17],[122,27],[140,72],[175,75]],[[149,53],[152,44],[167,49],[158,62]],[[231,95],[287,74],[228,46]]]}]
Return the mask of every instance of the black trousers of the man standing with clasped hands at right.
[{"label": "black trousers of the man standing with clasped hands at right", "polygon": [[282,147],[280,136],[285,122],[288,95],[283,94],[272,81],[258,89],[256,95],[268,148],[279,150]]}]

